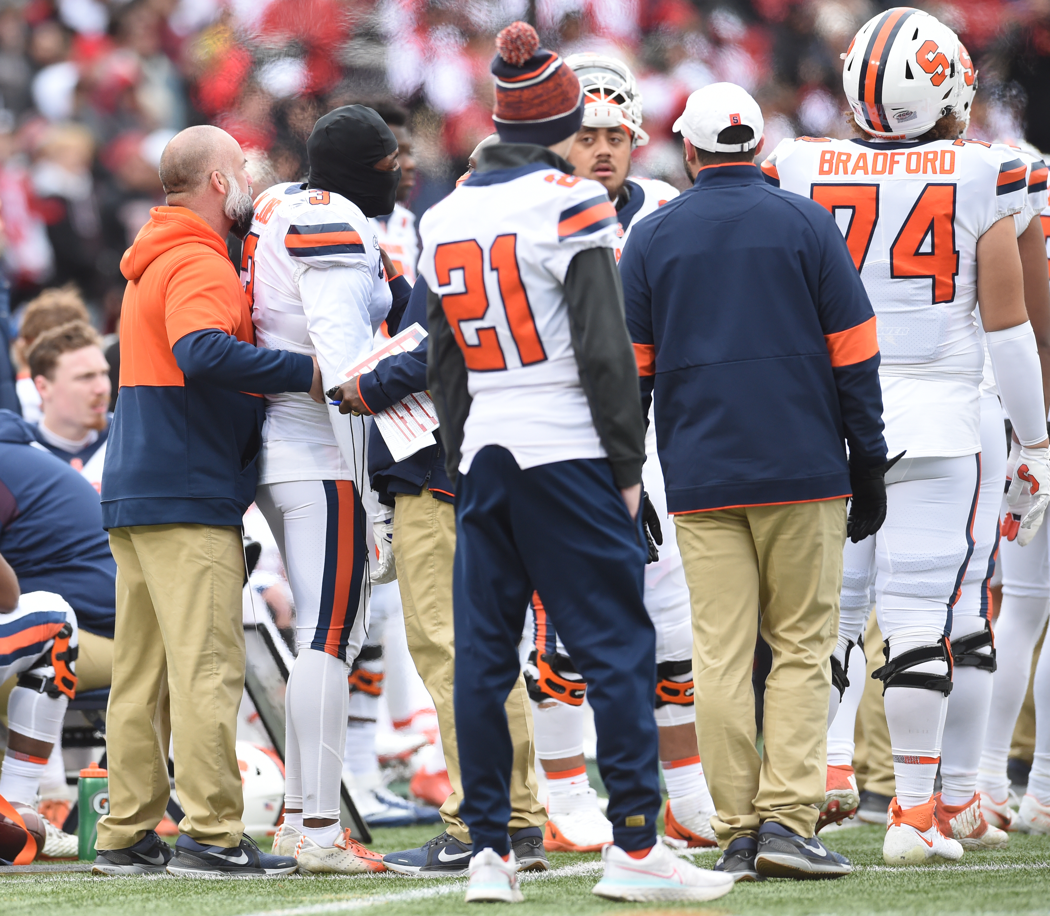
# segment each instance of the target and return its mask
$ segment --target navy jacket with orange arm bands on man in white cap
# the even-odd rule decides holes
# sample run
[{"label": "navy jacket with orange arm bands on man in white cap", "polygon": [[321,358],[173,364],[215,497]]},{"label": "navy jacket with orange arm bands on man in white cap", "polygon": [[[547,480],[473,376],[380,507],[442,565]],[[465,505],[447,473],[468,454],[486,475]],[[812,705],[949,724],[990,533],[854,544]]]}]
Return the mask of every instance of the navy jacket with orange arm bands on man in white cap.
[{"label": "navy jacket with orange arm bands on man in white cap", "polygon": [[704,168],[620,263],[672,514],[850,495],[886,460],[875,313],[819,204]]}]

